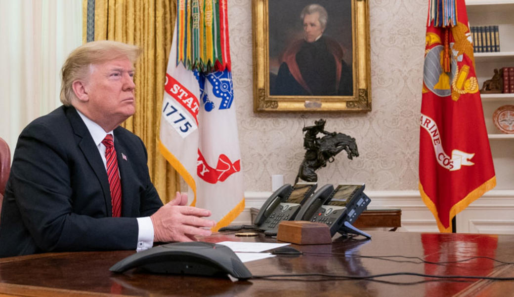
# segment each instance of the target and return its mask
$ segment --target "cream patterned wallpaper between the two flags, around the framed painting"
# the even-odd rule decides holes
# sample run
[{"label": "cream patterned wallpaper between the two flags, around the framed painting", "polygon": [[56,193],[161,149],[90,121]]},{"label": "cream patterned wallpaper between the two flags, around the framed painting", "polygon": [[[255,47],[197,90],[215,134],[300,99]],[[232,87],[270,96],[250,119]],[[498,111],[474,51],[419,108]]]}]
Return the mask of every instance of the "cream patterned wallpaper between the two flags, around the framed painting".
[{"label": "cream patterned wallpaper between the two flags, around the framed painting", "polygon": [[[274,0],[270,0],[274,1]],[[276,0],[275,0],[276,1]],[[246,191],[270,191],[271,175],[293,183],[303,160],[304,125],[355,137],[359,157],[343,151],[317,171],[318,183],[363,182],[368,190],[417,190],[419,111],[426,0],[370,0],[369,113],[254,113],[251,0],[229,0],[235,104]]]}]

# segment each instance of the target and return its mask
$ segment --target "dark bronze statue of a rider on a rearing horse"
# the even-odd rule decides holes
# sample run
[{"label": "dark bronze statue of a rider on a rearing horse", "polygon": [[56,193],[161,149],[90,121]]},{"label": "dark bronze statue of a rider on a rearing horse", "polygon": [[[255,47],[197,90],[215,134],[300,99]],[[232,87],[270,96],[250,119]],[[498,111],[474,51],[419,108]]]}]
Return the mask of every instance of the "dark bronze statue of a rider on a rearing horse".
[{"label": "dark bronze statue of a rider on a rearing horse", "polygon": [[[315,171],[325,167],[327,161],[328,163],[334,162],[334,156],[342,150],[346,151],[350,160],[359,156],[355,138],[343,133],[325,131],[325,123],[326,121],[320,118],[319,121],[314,122],[314,126],[303,127],[302,129],[305,132],[303,147],[306,152],[298,170],[295,184],[299,179],[306,182],[317,182],[318,175]],[[319,133],[325,135],[320,138],[318,137]]]}]

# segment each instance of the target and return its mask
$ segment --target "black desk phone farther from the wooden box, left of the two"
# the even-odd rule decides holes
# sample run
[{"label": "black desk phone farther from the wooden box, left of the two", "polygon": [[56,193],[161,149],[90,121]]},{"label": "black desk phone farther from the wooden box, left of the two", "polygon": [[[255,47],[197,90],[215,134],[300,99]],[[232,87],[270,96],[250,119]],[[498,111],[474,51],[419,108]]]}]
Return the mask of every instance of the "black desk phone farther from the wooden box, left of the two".
[{"label": "black desk phone farther from the wooden box, left of the two", "polygon": [[281,221],[295,218],[304,202],[316,189],[316,183],[285,184],[269,196],[253,224],[261,230],[278,230]]}]

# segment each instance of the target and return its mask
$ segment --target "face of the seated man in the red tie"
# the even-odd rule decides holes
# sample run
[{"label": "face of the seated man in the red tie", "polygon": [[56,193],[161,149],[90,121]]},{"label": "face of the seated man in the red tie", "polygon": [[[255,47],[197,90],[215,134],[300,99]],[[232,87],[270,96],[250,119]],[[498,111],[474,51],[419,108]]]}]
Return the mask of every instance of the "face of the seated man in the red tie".
[{"label": "face of the seated man in the red tie", "polygon": [[104,129],[117,126],[136,111],[134,67],[128,58],[121,57],[92,68],[87,80],[91,120],[100,122]]}]

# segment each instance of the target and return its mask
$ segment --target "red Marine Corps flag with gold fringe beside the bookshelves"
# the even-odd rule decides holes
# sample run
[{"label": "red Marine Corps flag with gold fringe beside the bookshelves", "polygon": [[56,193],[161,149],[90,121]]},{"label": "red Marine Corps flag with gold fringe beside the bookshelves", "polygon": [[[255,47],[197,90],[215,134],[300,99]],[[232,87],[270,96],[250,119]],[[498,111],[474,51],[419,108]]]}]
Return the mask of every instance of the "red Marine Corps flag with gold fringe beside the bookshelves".
[{"label": "red Marine Corps flag with gold fringe beside the bookshelves", "polygon": [[496,185],[464,0],[430,0],[419,132],[419,192],[440,232]]}]

